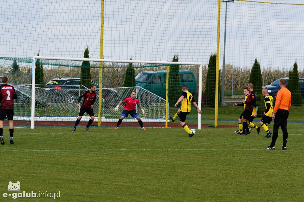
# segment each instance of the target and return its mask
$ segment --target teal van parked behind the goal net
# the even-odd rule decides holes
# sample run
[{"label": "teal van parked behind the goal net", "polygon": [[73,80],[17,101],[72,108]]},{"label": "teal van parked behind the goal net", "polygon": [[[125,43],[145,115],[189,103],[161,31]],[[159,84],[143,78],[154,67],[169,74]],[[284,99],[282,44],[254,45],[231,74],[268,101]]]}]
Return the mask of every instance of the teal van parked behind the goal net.
[{"label": "teal van parked behind the goal net", "polygon": [[[181,86],[186,84],[190,92],[196,92],[196,80],[192,71],[179,70],[179,77]],[[136,86],[140,86],[164,99],[166,99],[166,79],[166,70],[140,72],[135,77]]]}]

